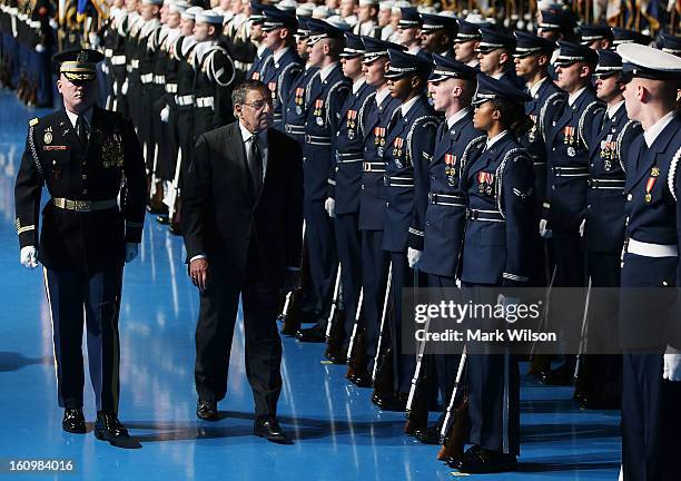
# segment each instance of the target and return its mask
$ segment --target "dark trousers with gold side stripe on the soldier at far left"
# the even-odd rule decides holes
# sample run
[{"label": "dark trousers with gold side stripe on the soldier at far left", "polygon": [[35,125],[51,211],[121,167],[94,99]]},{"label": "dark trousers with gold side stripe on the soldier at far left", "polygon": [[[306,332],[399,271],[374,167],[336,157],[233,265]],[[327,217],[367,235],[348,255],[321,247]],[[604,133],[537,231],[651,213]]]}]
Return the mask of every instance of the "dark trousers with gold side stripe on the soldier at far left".
[{"label": "dark trousers with gold side stripe on the soldier at far left", "polygon": [[59,406],[82,408],[85,312],[90,381],[97,411],[117,414],[122,267],[111,267],[90,276],[75,269],[45,268],[43,276],[52,321]]}]

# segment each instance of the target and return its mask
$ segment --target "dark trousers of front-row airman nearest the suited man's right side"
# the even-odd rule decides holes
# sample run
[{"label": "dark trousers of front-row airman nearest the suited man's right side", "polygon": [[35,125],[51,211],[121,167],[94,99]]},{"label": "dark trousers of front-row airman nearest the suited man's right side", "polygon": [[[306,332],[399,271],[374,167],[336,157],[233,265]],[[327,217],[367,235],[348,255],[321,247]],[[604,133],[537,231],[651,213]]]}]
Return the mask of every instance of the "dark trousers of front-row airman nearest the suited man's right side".
[{"label": "dark trousers of front-row airman nearest the suited man's right side", "polygon": [[323,202],[305,202],[303,212],[309,275],[316,297],[315,311],[322,313],[319,322],[326,326],[338,265],[334,224]]}]

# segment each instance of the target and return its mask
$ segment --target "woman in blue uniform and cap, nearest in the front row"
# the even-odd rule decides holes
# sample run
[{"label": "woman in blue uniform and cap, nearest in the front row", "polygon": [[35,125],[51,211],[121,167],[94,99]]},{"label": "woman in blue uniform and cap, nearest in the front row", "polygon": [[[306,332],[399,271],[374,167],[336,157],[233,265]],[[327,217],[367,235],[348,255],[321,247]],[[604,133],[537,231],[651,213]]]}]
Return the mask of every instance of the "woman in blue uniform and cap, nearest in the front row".
[{"label": "woman in blue uniform and cap, nearest in the front row", "polygon": [[[462,158],[467,224],[461,282],[465,297],[475,303],[496,304],[490,287],[530,282],[534,174],[532,158],[516,140],[516,129],[529,122],[523,107],[529,100],[521,90],[478,75],[473,122],[486,136],[474,139]],[[514,470],[520,452],[517,360],[509,352],[474,352],[466,362],[472,446],[455,465],[465,473]]]}]

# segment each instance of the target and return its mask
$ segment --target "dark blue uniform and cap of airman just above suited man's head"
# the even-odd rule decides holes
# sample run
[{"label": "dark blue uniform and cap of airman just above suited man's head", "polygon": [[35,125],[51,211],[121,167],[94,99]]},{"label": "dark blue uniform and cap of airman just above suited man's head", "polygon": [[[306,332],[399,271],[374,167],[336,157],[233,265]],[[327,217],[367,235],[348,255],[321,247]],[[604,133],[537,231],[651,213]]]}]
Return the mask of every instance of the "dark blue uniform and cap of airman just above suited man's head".
[{"label": "dark blue uniform and cap of airman just above suited man's head", "polygon": [[[293,39],[296,32],[297,21],[294,12],[279,10],[276,7],[263,6],[265,12],[265,23],[263,30],[269,32],[279,28],[288,29],[288,33]],[[274,125],[277,130],[284,131],[284,121],[282,115],[282,92],[283,81],[289,75],[295,75],[300,71],[303,60],[298,57],[295,49],[295,43],[285,47],[283,52],[276,52],[267,57],[263,61],[260,68],[259,80],[269,88],[274,107]]]}]

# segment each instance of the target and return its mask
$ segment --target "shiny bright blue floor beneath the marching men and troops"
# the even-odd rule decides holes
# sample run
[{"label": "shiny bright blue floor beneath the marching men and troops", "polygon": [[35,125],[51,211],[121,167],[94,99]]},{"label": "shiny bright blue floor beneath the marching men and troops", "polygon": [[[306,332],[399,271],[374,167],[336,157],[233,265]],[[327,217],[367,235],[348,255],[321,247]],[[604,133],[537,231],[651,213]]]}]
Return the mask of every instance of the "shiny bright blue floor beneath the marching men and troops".
[{"label": "shiny bright blue floor beneath the marching men and troops", "polygon": [[[198,297],[181,238],[147,218],[140,257],[125,271],[120,316],[120,419],[141,445],[97,441],[86,382],[86,435],[61,431],[51,326],[40,269],[19,264],[13,184],[28,120],[47,111],[0,89],[0,477],[87,480],[450,480],[437,446],[402,433],[404,415],[381,412],[343,366],[323,364],[323,346],[284,338],[279,401],[290,446],[251,435],[253,396],[238,324],[227,399],[217,423],[194,414],[194,331]],[[46,193],[43,192],[43,197]],[[85,345],[85,344],[83,344]],[[571,390],[524,379],[520,472],[485,480],[616,480],[619,412],[581,411]],[[432,414],[434,418],[435,414]],[[9,473],[10,460],[71,460],[71,474]]]}]

